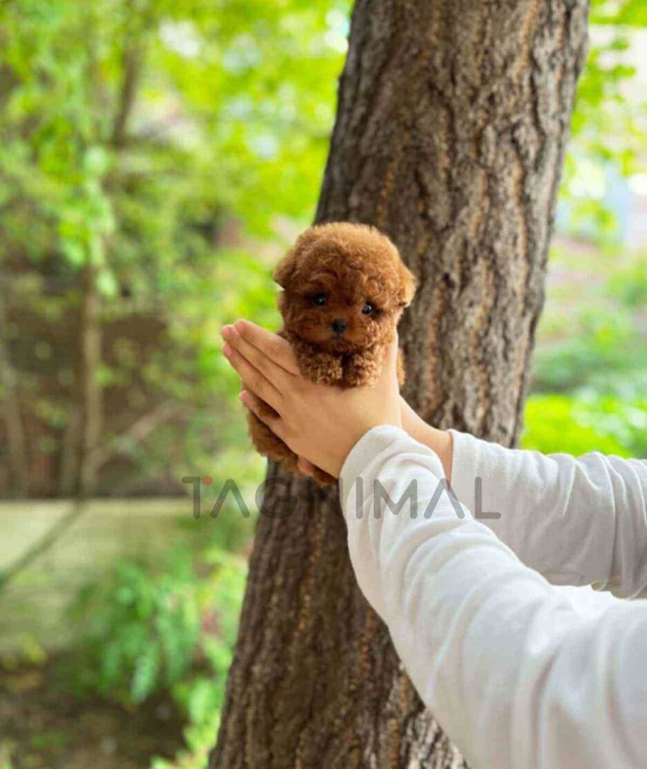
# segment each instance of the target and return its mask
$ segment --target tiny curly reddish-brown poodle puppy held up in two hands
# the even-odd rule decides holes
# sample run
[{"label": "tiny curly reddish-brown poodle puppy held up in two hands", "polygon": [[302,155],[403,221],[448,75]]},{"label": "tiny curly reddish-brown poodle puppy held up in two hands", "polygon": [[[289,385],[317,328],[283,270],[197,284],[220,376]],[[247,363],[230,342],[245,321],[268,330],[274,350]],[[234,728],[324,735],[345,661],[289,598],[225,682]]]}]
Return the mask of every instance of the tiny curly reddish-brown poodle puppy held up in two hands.
[{"label": "tiny curly reddish-brown poodle puppy held up in two hands", "polygon": [[[413,275],[389,238],[367,225],[317,225],[300,235],[274,280],[284,289],[279,334],[292,345],[304,377],[341,388],[373,384],[415,291]],[[399,369],[402,384],[401,364]],[[249,424],[257,451],[298,474],[297,455],[254,414]],[[337,482],[318,469],[314,478]]]}]

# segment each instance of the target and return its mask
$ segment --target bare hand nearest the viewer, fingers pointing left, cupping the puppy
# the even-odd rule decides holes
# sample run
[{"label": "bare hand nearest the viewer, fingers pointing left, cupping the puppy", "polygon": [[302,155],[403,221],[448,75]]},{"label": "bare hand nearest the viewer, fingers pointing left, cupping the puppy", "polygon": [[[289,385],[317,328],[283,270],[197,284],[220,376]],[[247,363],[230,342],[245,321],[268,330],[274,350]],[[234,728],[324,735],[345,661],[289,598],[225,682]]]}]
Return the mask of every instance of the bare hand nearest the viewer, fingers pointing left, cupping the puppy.
[{"label": "bare hand nearest the viewer, fingers pointing left, cupping the puppy", "polygon": [[[373,387],[341,390],[305,379],[287,341],[250,321],[236,321],[221,333],[223,353],[245,386],[241,401],[303,458],[302,469],[310,462],[338,478],[364,433],[379,424],[400,427],[396,339]],[[261,401],[276,415],[267,416]]]}]

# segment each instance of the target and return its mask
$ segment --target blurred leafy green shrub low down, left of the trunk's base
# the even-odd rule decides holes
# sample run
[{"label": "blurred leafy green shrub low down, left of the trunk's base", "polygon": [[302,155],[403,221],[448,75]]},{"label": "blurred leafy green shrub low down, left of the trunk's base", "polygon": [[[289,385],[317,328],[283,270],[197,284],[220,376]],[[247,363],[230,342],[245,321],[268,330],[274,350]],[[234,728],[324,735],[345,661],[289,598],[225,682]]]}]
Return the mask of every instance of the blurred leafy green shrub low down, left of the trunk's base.
[{"label": "blurred leafy green shrub low down, left of the trunk's base", "polygon": [[199,557],[176,548],[158,569],[116,564],[71,609],[81,638],[70,671],[78,693],[138,705],[169,691],[187,720],[187,749],[173,765],[202,767],[224,701],[245,576],[244,560],[216,546]]}]

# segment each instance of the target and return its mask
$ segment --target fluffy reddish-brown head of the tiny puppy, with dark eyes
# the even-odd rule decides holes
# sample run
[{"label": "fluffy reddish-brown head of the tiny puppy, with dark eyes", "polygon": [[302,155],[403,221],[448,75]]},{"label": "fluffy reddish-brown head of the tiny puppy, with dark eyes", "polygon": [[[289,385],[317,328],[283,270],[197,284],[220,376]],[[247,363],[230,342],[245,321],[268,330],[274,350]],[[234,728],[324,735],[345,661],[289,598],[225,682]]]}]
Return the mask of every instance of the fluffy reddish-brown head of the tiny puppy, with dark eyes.
[{"label": "fluffy reddish-brown head of the tiny puppy, with dark eyes", "polygon": [[333,353],[387,341],[415,290],[393,243],[347,222],[307,230],[278,265],[285,328]]}]

